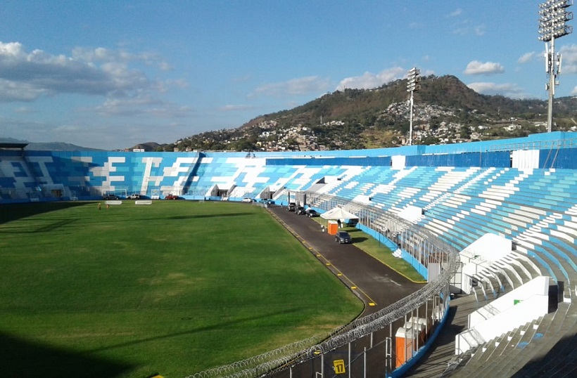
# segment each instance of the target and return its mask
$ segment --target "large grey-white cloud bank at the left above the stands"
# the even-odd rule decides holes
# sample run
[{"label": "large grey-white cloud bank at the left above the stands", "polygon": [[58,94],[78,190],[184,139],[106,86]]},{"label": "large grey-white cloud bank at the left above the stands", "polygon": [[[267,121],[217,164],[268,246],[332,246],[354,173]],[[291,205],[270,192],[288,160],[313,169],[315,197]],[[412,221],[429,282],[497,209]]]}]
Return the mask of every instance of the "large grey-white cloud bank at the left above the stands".
[{"label": "large grey-white cloud bank at the left above the stands", "polygon": [[58,93],[118,97],[154,91],[155,82],[129,66],[134,61],[167,68],[148,53],[75,48],[70,57],[54,56],[26,51],[19,42],[0,42],[0,101],[32,101]]}]

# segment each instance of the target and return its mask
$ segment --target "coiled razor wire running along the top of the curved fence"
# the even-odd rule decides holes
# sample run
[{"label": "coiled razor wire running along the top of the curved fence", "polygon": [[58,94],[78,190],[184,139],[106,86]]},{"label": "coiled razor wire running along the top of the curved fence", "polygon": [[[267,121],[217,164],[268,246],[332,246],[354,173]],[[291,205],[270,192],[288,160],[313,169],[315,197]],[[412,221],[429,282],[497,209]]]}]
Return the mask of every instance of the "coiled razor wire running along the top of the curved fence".
[{"label": "coiled razor wire running along the top of the curved fence", "polygon": [[398,216],[387,213],[382,209],[367,207],[367,204],[351,202],[330,195],[318,195],[317,193],[306,194],[310,196],[307,197],[309,204],[314,203],[315,207],[319,209],[328,210],[330,207],[344,206],[346,204],[349,207],[364,209],[364,211],[369,213],[367,214],[369,217],[388,222],[388,226],[391,226],[391,233],[393,233],[393,235],[401,235],[403,233],[405,235],[419,235],[421,240],[426,240],[428,243],[431,243],[431,245],[443,250],[447,261],[442,265],[440,274],[435,280],[376,313],[357,318],[348,325],[338,327],[324,336],[317,335],[296,341],[293,344],[267,351],[258,356],[198,372],[186,378],[253,378],[278,370],[281,367],[286,367],[289,364],[303,363],[306,360],[315,358],[319,353],[333,351],[336,348],[365,337],[372,332],[383,330],[384,327],[390,325],[395,320],[402,318],[405,314],[425,304],[431,297],[443,292],[455,274],[455,271],[457,271],[457,263],[459,261],[457,249],[448,244],[448,242],[445,242],[445,240],[441,240],[436,235],[433,235],[433,233],[430,233],[428,230],[405,221],[405,219],[400,219]]}]

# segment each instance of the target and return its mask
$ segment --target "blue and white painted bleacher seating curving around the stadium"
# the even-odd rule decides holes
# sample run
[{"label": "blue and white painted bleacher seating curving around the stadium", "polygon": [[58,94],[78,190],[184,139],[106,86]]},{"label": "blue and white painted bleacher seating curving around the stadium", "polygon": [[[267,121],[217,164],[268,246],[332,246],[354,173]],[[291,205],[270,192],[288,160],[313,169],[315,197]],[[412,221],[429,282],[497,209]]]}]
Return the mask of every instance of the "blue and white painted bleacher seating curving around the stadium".
[{"label": "blue and white painted bleacher seating curving around the stadium", "polygon": [[[327,160],[328,162],[328,160]],[[533,370],[550,375],[562,363],[528,364],[553,348],[564,360],[577,328],[577,170],[495,167],[402,167],[362,165],[268,165],[244,153],[27,152],[0,153],[0,202],[11,191],[30,193],[42,185],[62,184],[89,198],[123,188],[148,195],[153,188],[181,188],[184,197],[210,195],[210,188],[231,190],[231,198],[258,197],[265,190],[334,195],[393,214],[420,207],[415,223],[457,249],[493,233],[514,243],[514,253],[476,276],[476,302],[498,296],[538,275],[559,284],[559,310],[478,348],[462,367],[481,376],[509,376]],[[532,335],[532,336],[531,336]],[[539,337],[536,337],[540,335]],[[568,344],[569,343],[569,344]],[[570,354],[570,353],[569,353]],[[496,361],[507,358],[507,372]],[[493,361],[490,369],[487,361]],[[483,367],[484,366],[484,367]],[[484,370],[483,370],[484,369]],[[497,369],[497,370],[495,370]],[[531,374],[529,374],[531,373]],[[470,374],[470,373],[469,373]]]}]

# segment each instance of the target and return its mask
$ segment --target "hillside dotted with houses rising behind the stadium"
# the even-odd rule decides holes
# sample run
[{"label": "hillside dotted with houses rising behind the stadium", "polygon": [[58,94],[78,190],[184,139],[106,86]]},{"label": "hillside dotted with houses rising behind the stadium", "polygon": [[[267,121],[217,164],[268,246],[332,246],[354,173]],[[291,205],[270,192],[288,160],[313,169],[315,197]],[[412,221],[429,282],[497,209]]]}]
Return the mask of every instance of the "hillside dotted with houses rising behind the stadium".
[{"label": "hillside dotted with houses rising behind the stadium", "polygon": [[[407,143],[409,94],[405,79],[377,89],[335,91],[263,115],[238,129],[183,138],[163,150],[334,150],[394,147]],[[556,99],[556,130],[577,126],[577,100]],[[547,102],[481,95],[457,77],[423,77],[414,93],[413,143],[458,143],[526,136],[546,131]]]}]

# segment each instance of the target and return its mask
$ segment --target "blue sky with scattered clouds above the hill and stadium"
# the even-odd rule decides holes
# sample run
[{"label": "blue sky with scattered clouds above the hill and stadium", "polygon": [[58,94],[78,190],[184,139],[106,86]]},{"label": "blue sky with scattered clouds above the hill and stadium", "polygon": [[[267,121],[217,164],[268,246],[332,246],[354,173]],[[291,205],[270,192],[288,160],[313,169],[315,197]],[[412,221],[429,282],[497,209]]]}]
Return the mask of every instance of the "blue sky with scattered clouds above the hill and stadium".
[{"label": "blue sky with scattered clouds above the hill and stadium", "polygon": [[[4,0],[0,137],[107,150],[172,143],[411,67],[479,93],[546,99],[538,4]],[[577,95],[576,35],[555,47],[555,96]]]}]

